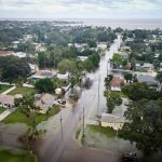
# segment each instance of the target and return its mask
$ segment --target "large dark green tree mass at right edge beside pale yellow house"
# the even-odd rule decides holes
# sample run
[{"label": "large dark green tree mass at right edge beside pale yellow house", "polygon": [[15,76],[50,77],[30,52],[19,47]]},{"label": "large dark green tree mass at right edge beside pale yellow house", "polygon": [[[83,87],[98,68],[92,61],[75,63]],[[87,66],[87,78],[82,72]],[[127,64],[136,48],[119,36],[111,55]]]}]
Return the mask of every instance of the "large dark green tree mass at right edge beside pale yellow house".
[{"label": "large dark green tree mass at right edge beside pale yellow house", "polygon": [[119,133],[124,139],[135,141],[136,147],[150,154],[162,151],[162,100],[133,102],[129,105],[124,123]]}]

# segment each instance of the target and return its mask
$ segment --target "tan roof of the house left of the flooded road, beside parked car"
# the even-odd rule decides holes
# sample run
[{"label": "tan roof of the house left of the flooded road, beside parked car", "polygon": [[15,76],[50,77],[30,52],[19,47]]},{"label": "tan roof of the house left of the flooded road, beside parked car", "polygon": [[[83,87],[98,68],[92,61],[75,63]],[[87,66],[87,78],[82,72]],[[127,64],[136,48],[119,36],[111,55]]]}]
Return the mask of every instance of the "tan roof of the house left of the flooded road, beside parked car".
[{"label": "tan roof of the house left of the flooded road, beside parked car", "polygon": [[36,102],[36,106],[40,107],[41,109],[49,109],[55,103],[55,97],[51,94],[44,94],[39,100]]}]

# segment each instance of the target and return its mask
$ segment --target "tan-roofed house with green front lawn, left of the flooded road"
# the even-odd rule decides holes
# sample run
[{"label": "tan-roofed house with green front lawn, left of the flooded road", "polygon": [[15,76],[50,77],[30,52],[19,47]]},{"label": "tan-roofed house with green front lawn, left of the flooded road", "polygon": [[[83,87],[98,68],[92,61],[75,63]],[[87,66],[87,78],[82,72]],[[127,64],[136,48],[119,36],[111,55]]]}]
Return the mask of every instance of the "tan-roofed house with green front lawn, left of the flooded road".
[{"label": "tan-roofed house with green front lawn, left of the flooded road", "polygon": [[51,108],[55,104],[55,97],[49,93],[40,95],[37,97],[35,105],[39,107],[40,113],[46,113],[49,108]]}]

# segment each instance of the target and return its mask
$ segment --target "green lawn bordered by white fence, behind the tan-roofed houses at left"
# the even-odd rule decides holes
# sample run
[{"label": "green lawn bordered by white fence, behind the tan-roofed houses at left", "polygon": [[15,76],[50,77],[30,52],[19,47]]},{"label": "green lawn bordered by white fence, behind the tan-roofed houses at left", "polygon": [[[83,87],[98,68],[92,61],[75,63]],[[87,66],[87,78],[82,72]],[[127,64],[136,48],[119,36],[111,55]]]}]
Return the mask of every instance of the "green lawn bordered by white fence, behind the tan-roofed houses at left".
[{"label": "green lawn bordered by white fence, behind the tan-roofed houses at left", "polygon": [[11,91],[9,95],[15,95],[15,94],[31,95],[35,94],[37,90],[33,87],[18,86],[15,90]]}]

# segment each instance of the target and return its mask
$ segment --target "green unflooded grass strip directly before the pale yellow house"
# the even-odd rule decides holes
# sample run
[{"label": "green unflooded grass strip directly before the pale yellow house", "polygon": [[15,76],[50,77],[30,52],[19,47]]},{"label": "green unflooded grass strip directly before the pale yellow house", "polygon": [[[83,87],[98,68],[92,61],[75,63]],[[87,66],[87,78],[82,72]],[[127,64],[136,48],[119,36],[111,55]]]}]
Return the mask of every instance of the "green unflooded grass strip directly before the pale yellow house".
[{"label": "green unflooded grass strip directly before the pale yellow house", "polygon": [[108,138],[114,138],[116,137],[116,131],[111,127],[103,127],[99,125],[87,125],[87,129],[92,131],[93,133],[99,133],[102,135],[107,136]]}]

